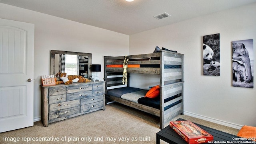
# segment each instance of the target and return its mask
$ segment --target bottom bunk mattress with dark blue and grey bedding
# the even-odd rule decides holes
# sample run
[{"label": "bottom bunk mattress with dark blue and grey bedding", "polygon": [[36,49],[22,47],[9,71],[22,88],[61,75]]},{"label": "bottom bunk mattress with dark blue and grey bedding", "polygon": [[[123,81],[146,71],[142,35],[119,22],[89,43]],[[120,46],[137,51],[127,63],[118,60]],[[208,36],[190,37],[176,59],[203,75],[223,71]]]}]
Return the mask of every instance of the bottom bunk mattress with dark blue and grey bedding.
[{"label": "bottom bunk mattress with dark blue and grey bedding", "polygon": [[[139,103],[142,105],[146,105],[149,107],[153,107],[155,109],[160,109],[160,96],[156,98],[148,98],[148,97],[145,97],[147,92],[148,90],[144,90],[140,88],[124,87],[124,88],[116,88],[113,90],[109,90],[107,94],[115,97],[119,97],[122,99],[126,99],[128,101],[133,101],[135,103]],[[164,103],[172,99],[175,99],[176,97],[178,97],[178,95],[174,95],[172,97],[164,99]],[[180,103],[180,101],[176,101],[175,103],[172,103],[171,105],[164,107],[164,110],[169,109],[170,107],[173,107],[178,103]]]}]

